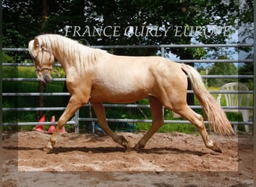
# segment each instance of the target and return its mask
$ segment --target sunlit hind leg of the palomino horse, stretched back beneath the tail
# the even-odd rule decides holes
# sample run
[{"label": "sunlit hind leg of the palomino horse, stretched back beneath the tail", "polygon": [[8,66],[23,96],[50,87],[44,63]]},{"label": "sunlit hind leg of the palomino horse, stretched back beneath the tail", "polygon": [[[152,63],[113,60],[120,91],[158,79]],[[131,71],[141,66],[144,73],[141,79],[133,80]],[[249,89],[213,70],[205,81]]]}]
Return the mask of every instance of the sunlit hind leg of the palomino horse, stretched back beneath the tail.
[{"label": "sunlit hind leg of the palomino horse, stretched back beneath the tail", "polygon": [[189,106],[186,104],[178,105],[178,107],[174,106],[172,110],[189,120],[198,128],[198,131],[200,132],[207,148],[222,153],[222,150],[219,148],[218,144],[210,140],[204,125],[204,118],[200,114],[195,113],[195,111],[189,108]]}]

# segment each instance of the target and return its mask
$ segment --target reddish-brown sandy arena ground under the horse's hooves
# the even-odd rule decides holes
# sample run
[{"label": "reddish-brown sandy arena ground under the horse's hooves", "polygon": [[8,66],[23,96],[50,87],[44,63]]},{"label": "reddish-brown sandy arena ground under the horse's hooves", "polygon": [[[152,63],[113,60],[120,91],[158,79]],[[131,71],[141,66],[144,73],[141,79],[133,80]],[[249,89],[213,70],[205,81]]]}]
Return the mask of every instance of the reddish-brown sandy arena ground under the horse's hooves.
[{"label": "reddish-brown sandy arena ground under the horse's hooves", "polygon": [[[133,147],[144,132],[119,132]],[[52,153],[43,132],[3,133],[3,186],[253,186],[253,136],[210,134],[222,153],[201,136],[156,133],[137,153],[109,136],[67,133]]]}]

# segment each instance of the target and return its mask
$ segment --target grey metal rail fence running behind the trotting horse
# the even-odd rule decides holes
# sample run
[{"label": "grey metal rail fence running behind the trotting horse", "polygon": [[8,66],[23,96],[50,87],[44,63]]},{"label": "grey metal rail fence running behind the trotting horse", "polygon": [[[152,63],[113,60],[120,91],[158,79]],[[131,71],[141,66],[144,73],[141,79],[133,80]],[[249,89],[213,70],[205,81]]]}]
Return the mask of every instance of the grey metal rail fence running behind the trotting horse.
[{"label": "grey metal rail fence running behind the trotting horse", "polygon": [[[204,45],[159,45],[159,46],[91,46],[93,48],[100,48],[100,49],[116,49],[116,48],[156,48],[161,51],[162,57],[165,57],[165,49],[171,49],[171,48],[211,48],[211,47],[219,47],[219,48],[238,48],[238,47],[253,47],[253,45],[248,44],[204,44]],[[28,49],[11,49],[11,48],[3,48],[3,51],[5,52],[28,52]],[[252,59],[235,59],[235,60],[176,60],[177,62],[183,62],[183,63],[253,63]],[[18,64],[18,63],[2,63],[3,67],[32,67],[34,64]],[[60,67],[60,64],[55,64],[55,66]],[[202,76],[203,79],[222,79],[222,78],[228,78],[228,79],[252,79],[254,78],[253,75],[206,75]],[[66,79],[64,78],[56,78],[52,81],[54,82],[64,82]],[[37,78],[2,78],[3,82],[38,82]],[[188,91],[188,93],[192,93],[193,91]],[[253,91],[210,91],[210,93],[250,93],[253,94]],[[5,93],[3,91],[2,96],[69,96],[69,93]],[[83,107],[90,107],[90,103],[84,105]],[[150,108],[149,105],[137,105],[137,104],[104,104],[105,107],[119,107],[119,108]],[[200,105],[190,105],[191,108],[201,108]],[[252,106],[247,107],[222,107],[222,108],[228,108],[228,109],[249,109],[253,110]],[[2,111],[64,111],[65,107],[43,107],[43,108],[2,108]],[[3,112],[4,114],[4,112]],[[152,120],[139,120],[139,119],[107,119],[109,122],[128,122],[128,123],[151,123]],[[75,126],[75,132],[79,132],[79,123],[82,121],[97,121],[97,118],[93,117],[82,117],[79,114],[79,110],[76,111],[75,116],[67,122],[67,124],[71,124]],[[165,123],[189,123],[187,120],[165,120]],[[207,121],[204,121],[204,123],[207,123]],[[57,122],[4,122],[3,126],[31,126],[31,125],[55,125]],[[252,121],[248,122],[238,122],[238,121],[231,121],[231,124],[234,125],[252,125]]]}]

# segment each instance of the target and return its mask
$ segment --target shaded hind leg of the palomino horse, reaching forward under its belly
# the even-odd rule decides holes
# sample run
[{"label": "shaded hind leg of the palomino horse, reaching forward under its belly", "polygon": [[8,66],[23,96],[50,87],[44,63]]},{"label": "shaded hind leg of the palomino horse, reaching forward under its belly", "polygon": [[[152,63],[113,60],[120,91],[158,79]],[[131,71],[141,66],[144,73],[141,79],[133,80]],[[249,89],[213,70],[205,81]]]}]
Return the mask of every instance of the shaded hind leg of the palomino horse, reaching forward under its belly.
[{"label": "shaded hind leg of the palomino horse, reaching forward under its belly", "polygon": [[152,114],[152,126],[146,135],[144,135],[144,137],[138,141],[138,144],[135,145],[135,150],[140,150],[143,148],[145,144],[147,144],[147,141],[163,124],[162,103],[154,96],[149,97],[149,102]]}]

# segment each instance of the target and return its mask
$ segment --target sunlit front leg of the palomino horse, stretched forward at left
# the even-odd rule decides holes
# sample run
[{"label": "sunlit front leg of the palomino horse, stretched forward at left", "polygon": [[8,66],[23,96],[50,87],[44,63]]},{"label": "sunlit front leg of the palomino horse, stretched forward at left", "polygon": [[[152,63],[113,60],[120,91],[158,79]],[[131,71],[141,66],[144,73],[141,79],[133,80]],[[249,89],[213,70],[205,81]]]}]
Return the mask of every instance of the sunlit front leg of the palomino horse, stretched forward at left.
[{"label": "sunlit front leg of the palomino horse, stretched forward at left", "polygon": [[55,132],[53,132],[51,138],[49,139],[43,150],[51,151],[53,149],[53,145],[57,141],[61,128],[67,123],[67,120],[69,120],[76,113],[76,111],[85,103],[79,102],[79,100],[80,99],[76,99],[76,96],[71,96],[70,102],[68,102],[67,104],[67,108],[65,109],[64,113],[61,114],[61,117],[58,120]]}]

